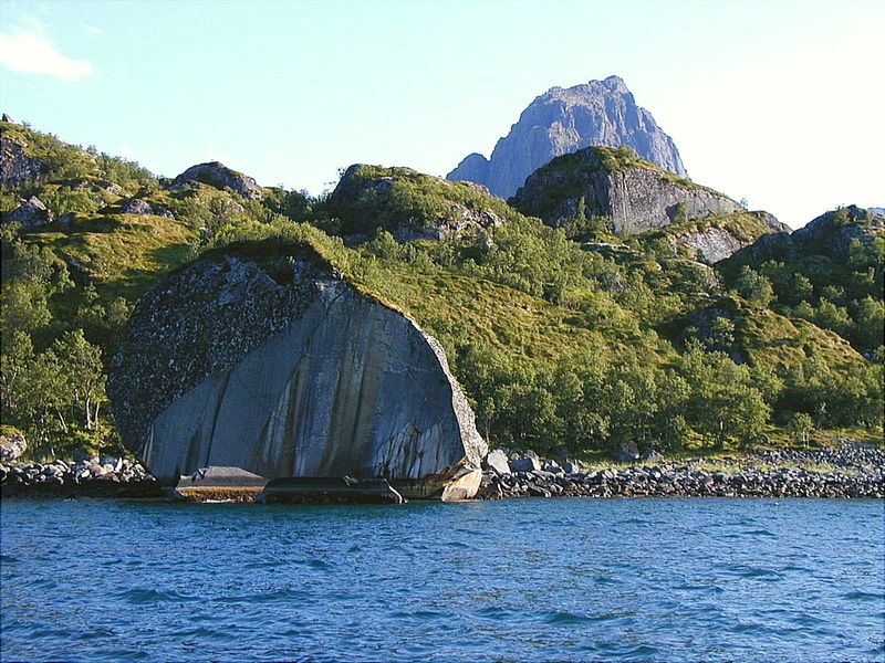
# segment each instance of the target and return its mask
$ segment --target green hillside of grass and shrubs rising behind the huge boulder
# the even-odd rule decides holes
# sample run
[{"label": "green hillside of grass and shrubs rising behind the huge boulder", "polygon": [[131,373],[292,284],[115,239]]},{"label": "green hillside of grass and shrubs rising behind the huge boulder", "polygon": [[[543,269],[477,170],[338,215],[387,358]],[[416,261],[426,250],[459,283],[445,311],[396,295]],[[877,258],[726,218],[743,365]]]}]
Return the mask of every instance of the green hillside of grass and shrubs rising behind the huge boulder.
[{"label": "green hillside of grass and shrubs rising behind the huge boulder", "polygon": [[[494,445],[748,444],[800,413],[820,428],[882,424],[878,360],[736,281],[739,261],[780,235],[715,269],[685,240],[725,225],[749,242],[770,229],[758,213],[577,242],[479,187],[405,168],[354,166],[330,199],[308,199],[222,165],[163,179],[19,125],[9,135],[22,175],[0,199],[3,421],[46,453],[114,443],[105,376],[135,302],[206,250],[246,240],[259,262],[309,244],[358,292],[416,319]],[[48,214],[17,220],[31,198]],[[833,270],[855,269],[851,246]]]}]

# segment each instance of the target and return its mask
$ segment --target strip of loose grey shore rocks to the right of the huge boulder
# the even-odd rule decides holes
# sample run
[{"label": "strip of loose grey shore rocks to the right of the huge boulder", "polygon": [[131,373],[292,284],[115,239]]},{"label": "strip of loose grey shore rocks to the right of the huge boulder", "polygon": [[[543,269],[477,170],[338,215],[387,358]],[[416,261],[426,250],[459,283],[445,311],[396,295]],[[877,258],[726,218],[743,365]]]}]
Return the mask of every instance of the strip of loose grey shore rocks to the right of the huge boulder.
[{"label": "strip of loose grey shore rocks to the right of the huge boulder", "polygon": [[[489,463],[476,499],[510,497],[885,497],[885,451],[861,444],[816,451],[770,451],[717,459],[608,467],[593,472],[525,455],[509,467]],[[534,467],[531,467],[534,465]],[[571,466],[570,466],[571,465]],[[528,469],[527,467],[531,467]],[[809,470],[812,467],[813,470]]]}]

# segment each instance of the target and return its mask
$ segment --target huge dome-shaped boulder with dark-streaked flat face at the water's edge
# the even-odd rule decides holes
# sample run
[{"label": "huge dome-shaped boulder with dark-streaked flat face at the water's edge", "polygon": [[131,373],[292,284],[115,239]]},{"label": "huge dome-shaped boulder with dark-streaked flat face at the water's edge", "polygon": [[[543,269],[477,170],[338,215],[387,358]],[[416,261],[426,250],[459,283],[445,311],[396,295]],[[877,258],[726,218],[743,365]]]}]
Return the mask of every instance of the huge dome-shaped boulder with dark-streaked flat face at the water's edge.
[{"label": "huge dome-shaped boulder with dark-streaked flat face at the water's edge", "polygon": [[231,246],[137,304],[108,394],[162,482],[207,466],[476,492],[487,445],[439,344],[313,250]]}]

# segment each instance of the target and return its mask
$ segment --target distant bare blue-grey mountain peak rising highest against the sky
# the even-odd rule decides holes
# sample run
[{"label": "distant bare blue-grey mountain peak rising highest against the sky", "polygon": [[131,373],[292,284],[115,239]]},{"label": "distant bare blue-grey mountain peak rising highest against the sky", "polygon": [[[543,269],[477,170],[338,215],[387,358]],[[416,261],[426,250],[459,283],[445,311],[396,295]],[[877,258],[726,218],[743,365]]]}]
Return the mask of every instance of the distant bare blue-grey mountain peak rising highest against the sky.
[{"label": "distant bare blue-grey mountain peak rising highest against the sky", "polygon": [[507,137],[494,146],[491,159],[472,154],[446,177],[485,185],[496,196],[509,198],[529,175],[554,157],[591,145],[629,145],[642,158],[686,175],[673,139],[648,110],[636,105],[624,81],[608,76],[549,90],[522,112]]}]

